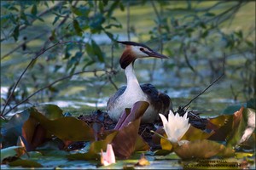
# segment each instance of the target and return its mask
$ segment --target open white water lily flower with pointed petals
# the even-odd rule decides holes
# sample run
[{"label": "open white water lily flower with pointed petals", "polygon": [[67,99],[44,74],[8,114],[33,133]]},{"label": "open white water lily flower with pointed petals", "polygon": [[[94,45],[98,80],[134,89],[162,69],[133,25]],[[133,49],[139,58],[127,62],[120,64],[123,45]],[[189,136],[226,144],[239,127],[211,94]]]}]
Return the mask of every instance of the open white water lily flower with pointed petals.
[{"label": "open white water lily flower with pointed petals", "polygon": [[166,116],[162,114],[159,115],[163,122],[168,140],[170,140],[172,143],[177,143],[190,127],[189,118],[187,118],[188,112],[186,112],[183,116],[179,116],[178,114],[174,116],[173,112],[169,111],[168,121]]}]

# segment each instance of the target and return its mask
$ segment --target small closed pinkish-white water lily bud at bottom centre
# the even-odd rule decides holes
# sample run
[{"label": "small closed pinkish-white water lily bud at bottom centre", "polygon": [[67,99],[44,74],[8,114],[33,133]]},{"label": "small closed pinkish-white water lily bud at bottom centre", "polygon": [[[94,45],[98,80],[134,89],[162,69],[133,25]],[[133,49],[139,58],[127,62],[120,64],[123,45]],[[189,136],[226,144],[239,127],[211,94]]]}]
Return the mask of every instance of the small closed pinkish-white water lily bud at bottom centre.
[{"label": "small closed pinkish-white water lily bud at bottom centre", "polygon": [[115,156],[113,153],[113,148],[111,144],[107,145],[107,151],[101,153],[101,163],[103,166],[108,166],[112,163],[115,163]]}]

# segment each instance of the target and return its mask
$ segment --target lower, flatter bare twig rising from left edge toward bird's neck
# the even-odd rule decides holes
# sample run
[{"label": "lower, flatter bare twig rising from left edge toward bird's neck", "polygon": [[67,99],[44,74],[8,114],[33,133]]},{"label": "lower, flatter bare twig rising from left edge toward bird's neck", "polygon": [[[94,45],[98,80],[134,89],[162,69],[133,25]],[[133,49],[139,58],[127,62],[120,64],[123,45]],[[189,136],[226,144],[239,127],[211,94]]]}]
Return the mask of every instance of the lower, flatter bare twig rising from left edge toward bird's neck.
[{"label": "lower, flatter bare twig rising from left edge toward bird's neck", "polygon": [[38,89],[38,90],[37,90],[36,92],[34,92],[33,94],[29,95],[26,99],[20,101],[19,104],[17,104],[17,105],[15,105],[14,107],[12,107],[9,111],[6,111],[6,112],[3,114],[3,116],[6,116],[10,111],[13,111],[16,107],[18,107],[19,105],[25,103],[28,99],[32,98],[32,96],[34,96],[35,94],[38,94],[39,92],[41,92],[41,91],[44,90],[45,88],[49,88],[49,87],[53,86],[53,85],[54,85],[55,83],[57,83],[57,82],[61,82],[61,81],[63,81],[63,80],[66,80],[66,79],[68,79],[68,78],[71,78],[71,77],[73,77],[74,75],[79,75],[79,74],[88,73],[88,72],[94,72],[94,73],[96,73],[97,71],[104,71],[104,70],[79,71],[79,72],[73,73],[72,75],[69,75],[69,76],[67,76],[67,77],[61,77],[61,78],[55,80],[55,82],[49,83],[49,84],[48,84],[47,86],[45,86],[44,88]]}]

